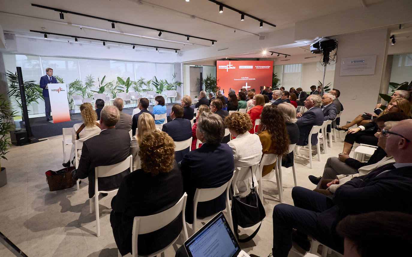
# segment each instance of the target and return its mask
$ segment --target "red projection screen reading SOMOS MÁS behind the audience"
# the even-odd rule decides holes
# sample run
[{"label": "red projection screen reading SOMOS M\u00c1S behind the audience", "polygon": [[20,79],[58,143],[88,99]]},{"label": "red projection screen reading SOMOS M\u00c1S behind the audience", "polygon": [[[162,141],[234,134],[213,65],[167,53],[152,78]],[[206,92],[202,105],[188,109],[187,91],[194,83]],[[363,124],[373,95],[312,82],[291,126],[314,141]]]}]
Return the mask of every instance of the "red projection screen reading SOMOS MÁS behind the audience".
[{"label": "red projection screen reading SOMOS M\u00c1S behind the audience", "polygon": [[216,79],[218,86],[225,90],[238,92],[243,86],[255,89],[260,86],[272,86],[273,61],[216,61]]}]

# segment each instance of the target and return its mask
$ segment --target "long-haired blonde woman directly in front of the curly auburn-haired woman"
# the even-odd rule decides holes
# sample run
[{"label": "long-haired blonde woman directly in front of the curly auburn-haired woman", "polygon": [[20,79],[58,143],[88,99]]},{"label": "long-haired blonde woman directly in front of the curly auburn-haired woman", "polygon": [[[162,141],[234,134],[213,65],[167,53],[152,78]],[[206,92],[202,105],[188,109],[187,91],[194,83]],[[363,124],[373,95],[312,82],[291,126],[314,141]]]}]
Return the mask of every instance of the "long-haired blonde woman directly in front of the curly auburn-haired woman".
[{"label": "long-haired blonde woman directly in front of the curly auburn-haired woman", "polygon": [[142,113],[137,121],[136,135],[131,138],[130,141],[130,154],[133,156],[133,171],[140,169],[141,162],[138,156],[139,145],[142,141],[143,134],[147,131],[153,131],[156,129],[155,120],[152,115],[148,113]]}]

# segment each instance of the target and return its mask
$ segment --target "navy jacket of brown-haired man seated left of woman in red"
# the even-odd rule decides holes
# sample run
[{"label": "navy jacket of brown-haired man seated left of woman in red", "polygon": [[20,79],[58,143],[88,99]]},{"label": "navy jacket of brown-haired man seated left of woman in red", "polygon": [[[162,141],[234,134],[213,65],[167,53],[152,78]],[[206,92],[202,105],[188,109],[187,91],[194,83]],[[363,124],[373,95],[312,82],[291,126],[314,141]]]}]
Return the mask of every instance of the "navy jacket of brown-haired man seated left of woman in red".
[{"label": "navy jacket of brown-haired man seated left of woman in red", "polygon": [[[162,131],[166,132],[175,142],[184,141],[192,137],[192,124],[188,119],[176,118],[163,124]],[[175,152],[175,160],[179,162],[189,152],[187,149]]]}]

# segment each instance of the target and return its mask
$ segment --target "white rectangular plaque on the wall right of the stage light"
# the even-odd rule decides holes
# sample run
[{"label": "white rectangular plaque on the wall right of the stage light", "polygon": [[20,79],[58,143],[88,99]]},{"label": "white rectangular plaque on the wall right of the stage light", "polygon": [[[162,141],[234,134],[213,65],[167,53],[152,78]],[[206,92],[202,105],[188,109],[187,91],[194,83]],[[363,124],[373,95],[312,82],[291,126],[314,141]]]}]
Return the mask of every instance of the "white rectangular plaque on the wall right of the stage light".
[{"label": "white rectangular plaque on the wall right of the stage light", "polygon": [[376,55],[342,58],[339,76],[374,75]]}]

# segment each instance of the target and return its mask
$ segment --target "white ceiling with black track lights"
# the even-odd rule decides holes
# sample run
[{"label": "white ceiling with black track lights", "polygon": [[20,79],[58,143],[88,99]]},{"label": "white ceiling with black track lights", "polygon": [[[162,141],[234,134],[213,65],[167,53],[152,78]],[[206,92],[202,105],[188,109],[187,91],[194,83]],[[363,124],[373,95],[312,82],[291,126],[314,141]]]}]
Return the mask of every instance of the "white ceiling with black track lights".
[{"label": "white ceiling with black track lights", "polygon": [[[365,0],[364,2],[366,5],[372,5],[382,1]],[[360,0],[222,0],[221,2],[269,23],[274,23],[276,28],[267,24],[264,24],[263,28],[259,28],[259,22],[247,16],[245,21],[240,21],[240,14],[227,8],[224,8],[223,13],[219,13],[219,6],[208,0],[191,0],[190,2],[185,2],[185,0],[33,0],[33,2],[0,0],[0,25],[3,30],[10,32],[33,34],[30,30],[44,28],[44,31],[51,33],[188,51],[201,47],[212,47],[211,42],[195,38],[191,38],[187,42],[186,37],[171,33],[162,33],[162,36],[158,37],[158,31],[118,23],[115,24],[115,29],[112,29],[111,23],[108,21],[74,14],[64,14],[65,19],[61,20],[58,12],[33,7],[31,3],[217,40],[215,47],[218,47],[222,42],[231,42],[294,26],[297,21],[313,19],[323,14],[362,8]],[[73,24],[83,26],[82,30]],[[109,32],[105,30],[109,30]],[[153,37],[153,39],[110,31]],[[37,35],[39,34],[37,33]],[[49,35],[49,37],[52,36]],[[74,41],[70,37],[67,40]],[[80,39],[79,42],[82,40]],[[279,52],[304,54],[304,50],[298,48],[282,49]],[[243,55],[242,58],[257,58],[256,56],[259,55],[259,53],[253,53],[250,56]],[[267,57],[271,57],[270,53]]]}]

